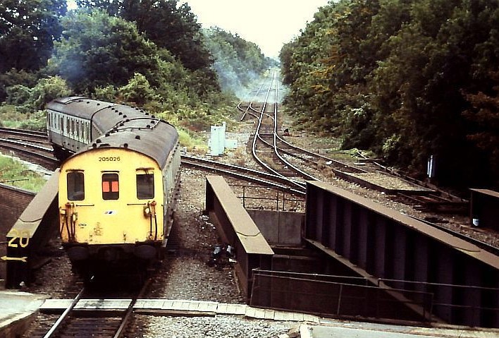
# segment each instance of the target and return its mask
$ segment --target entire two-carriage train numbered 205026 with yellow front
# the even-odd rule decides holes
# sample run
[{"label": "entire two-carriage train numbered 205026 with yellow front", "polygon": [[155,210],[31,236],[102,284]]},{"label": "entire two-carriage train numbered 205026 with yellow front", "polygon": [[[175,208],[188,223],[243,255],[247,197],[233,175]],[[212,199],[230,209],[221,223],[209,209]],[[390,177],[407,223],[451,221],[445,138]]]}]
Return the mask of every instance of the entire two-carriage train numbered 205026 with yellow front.
[{"label": "entire two-carriage train numbered 205026 with yellow front", "polygon": [[62,159],[58,225],[83,277],[148,267],[164,255],[180,190],[178,132],[147,111],[63,97],[46,107]]}]

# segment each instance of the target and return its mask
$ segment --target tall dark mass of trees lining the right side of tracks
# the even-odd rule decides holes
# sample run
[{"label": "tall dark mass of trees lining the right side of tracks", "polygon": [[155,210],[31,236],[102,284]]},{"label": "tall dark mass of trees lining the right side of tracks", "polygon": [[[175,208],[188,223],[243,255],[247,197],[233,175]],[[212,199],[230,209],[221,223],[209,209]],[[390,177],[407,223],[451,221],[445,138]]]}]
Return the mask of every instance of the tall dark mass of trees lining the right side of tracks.
[{"label": "tall dark mass of trees lining the right side of tracks", "polygon": [[[340,0],[281,50],[304,125],[454,186],[499,186],[499,4]],[[298,113],[306,111],[307,113]]]}]

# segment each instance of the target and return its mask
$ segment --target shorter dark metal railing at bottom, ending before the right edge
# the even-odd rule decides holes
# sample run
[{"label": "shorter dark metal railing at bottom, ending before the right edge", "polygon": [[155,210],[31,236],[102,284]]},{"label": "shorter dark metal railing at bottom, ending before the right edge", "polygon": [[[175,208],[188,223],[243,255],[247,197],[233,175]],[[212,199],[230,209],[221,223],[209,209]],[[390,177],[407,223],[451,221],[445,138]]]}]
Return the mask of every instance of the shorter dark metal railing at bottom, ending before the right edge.
[{"label": "shorter dark metal railing at bottom, ending before the right edge", "polygon": [[429,322],[433,294],[383,289],[362,277],[255,269],[250,305],[339,318]]}]

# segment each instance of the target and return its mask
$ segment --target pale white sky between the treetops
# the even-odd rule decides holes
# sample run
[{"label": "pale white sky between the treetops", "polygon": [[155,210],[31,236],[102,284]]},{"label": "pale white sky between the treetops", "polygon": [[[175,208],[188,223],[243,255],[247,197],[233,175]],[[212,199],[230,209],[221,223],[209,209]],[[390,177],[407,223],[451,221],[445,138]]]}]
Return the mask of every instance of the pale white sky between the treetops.
[{"label": "pale white sky between the treetops", "polygon": [[276,58],[281,47],[300,35],[328,0],[180,0],[187,2],[204,28],[216,25],[258,44]]}]

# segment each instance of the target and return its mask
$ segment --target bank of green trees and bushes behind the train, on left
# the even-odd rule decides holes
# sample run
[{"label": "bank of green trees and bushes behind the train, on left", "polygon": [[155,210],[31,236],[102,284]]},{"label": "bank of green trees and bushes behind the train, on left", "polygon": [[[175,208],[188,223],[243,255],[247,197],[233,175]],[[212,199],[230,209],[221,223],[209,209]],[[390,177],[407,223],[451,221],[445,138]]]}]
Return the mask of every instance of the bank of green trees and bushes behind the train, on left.
[{"label": "bank of green trees and bushes behind the train, on left", "polygon": [[216,57],[226,57],[218,51],[223,38],[246,71],[259,72],[267,61],[256,45],[223,31],[212,42],[190,7],[177,0],[77,2],[80,7],[67,13],[65,0],[0,4],[1,123],[18,116],[23,126],[42,128],[37,111],[47,102],[83,95],[140,105],[179,127],[206,129],[225,121],[235,105],[235,97],[221,91],[224,75],[215,66],[223,62]]}]

